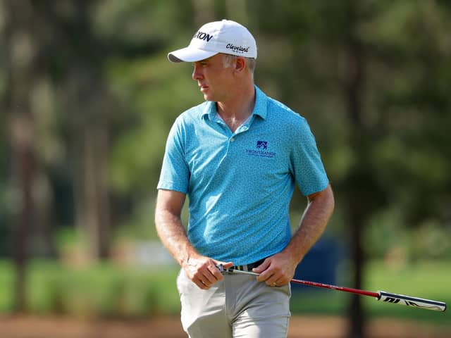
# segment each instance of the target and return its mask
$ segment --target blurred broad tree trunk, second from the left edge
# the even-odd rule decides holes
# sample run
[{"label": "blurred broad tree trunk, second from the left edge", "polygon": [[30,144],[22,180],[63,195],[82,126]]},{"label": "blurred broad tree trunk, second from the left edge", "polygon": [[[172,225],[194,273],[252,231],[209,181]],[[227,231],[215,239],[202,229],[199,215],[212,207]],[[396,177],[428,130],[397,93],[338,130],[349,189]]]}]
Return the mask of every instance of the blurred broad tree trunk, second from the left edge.
[{"label": "blurred broad tree trunk, second from the left edge", "polygon": [[60,57],[70,65],[58,79],[58,94],[66,113],[68,160],[73,165],[75,224],[87,234],[89,257],[94,260],[109,257],[107,158],[114,118],[113,99],[102,75],[106,50],[92,28],[91,11],[96,4],[97,1],[51,1],[37,8],[57,27],[54,39],[60,48],[63,46]]}]

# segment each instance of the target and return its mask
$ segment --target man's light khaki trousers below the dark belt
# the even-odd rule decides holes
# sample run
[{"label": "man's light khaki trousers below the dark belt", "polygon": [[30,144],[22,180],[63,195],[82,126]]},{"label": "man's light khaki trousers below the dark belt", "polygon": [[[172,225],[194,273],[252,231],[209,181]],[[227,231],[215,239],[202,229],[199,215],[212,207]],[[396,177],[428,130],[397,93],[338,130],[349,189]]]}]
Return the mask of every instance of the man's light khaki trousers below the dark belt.
[{"label": "man's light khaki trousers below the dark belt", "polygon": [[180,270],[177,287],[190,338],[287,337],[290,284],[268,287],[252,275],[224,275],[202,290]]}]

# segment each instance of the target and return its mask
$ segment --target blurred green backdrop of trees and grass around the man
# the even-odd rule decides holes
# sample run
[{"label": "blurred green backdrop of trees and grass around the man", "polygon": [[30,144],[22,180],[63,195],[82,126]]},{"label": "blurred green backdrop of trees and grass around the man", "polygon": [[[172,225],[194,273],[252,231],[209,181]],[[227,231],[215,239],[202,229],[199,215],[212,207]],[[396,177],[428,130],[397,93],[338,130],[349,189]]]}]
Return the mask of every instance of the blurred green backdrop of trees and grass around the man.
[{"label": "blurred green backdrop of trees and grass around the man", "polygon": [[[450,1],[0,0],[1,313],[180,311],[156,182],[202,95],[166,54],[222,18],[249,28],[257,85],[315,134],[336,282],[450,303]],[[294,226],[305,205],[296,191]],[[295,294],[292,311],[347,317],[350,337],[378,316],[451,323],[330,291]]]}]

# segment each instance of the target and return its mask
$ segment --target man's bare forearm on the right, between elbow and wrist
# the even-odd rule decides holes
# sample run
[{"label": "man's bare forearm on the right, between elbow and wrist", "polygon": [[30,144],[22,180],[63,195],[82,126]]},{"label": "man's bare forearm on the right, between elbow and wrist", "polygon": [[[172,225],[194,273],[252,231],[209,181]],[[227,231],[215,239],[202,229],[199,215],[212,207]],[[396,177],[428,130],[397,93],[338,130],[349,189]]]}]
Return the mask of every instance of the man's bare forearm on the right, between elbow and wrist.
[{"label": "man's bare forearm on the right, between elbow and wrist", "polygon": [[307,254],[311,246],[321,237],[333,213],[335,202],[330,185],[307,205],[299,228],[284,251],[290,253],[297,265]]}]

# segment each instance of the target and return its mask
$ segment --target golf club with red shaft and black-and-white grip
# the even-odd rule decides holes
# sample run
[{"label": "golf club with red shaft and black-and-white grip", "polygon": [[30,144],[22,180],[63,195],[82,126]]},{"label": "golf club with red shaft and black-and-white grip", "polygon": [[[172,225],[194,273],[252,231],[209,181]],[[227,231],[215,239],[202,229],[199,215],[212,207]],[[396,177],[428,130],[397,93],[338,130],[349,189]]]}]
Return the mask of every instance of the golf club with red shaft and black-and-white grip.
[{"label": "golf club with red shaft and black-and-white grip", "polygon": [[[218,265],[218,269],[221,273],[229,274],[242,274],[242,275],[254,275],[258,276],[258,273],[252,273],[250,271],[235,270],[233,268],[224,269],[222,264]],[[337,291],[350,292],[351,294],[361,294],[363,296],[371,296],[376,298],[378,301],[385,301],[386,303],[402,304],[405,306],[413,306],[416,308],[424,308],[426,310],[441,311],[446,310],[446,303],[443,301],[432,301],[431,299],[423,299],[412,296],[405,296],[404,294],[392,294],[390,292],[378,291],[370,292],[360,289],[352,289],[350,287],[338,287],[336,285],[323,284],[319,282],[309,282],[308,280],[295,280],[292,279],[290,282],[295,284],[309,285],[310,287],[322,287],[323,289],[333,289]]]}]

